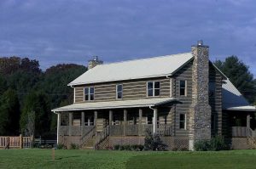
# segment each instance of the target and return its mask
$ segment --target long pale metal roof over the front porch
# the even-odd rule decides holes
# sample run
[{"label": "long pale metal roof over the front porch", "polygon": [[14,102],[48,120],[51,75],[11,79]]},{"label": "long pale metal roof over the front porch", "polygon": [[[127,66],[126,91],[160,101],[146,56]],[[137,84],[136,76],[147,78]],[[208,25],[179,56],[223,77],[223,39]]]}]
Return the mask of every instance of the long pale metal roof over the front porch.
[{"label": "long pale metal roof over the front porch", "polygon": [[118,109],[118,108],[135,108],[135,107],[148,107],[159,106],[168,104],[177,99],[173,98],[158,98],[158,99],[134,99],[134,100],[117,100],[108,102],[93,102],[70,104],[64,107],[56,108],[52,111],[75,111],[75,110],[104,110],[104,109]]}]

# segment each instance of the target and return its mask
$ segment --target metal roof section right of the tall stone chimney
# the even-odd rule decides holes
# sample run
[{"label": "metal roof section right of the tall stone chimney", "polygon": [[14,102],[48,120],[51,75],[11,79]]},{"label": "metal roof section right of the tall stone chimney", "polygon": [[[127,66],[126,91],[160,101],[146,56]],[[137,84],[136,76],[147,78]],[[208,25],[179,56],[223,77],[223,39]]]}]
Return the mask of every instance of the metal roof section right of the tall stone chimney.
[{"label": "metal roof section right of the tall stone chimney", "polygon": [[247,110],[255,111],[229,79],[224,80],[222,85],[222,108],[223,110]]}]

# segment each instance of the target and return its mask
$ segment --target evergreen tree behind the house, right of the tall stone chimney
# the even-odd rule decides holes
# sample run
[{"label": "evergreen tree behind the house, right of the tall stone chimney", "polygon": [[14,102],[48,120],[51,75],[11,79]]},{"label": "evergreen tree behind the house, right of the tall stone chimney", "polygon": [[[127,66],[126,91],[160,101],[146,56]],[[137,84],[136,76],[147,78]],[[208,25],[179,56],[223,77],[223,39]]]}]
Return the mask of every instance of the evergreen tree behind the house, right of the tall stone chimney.
[{"label": "evergreen tree behind the house, right of the tall stone chimney", "polygon": [[253,74],[237,56],[232,55],[224,61],[216,60],[214,65],[229,77],[230,81],[250,103],[255,101],[256,82],[253,79]]}]

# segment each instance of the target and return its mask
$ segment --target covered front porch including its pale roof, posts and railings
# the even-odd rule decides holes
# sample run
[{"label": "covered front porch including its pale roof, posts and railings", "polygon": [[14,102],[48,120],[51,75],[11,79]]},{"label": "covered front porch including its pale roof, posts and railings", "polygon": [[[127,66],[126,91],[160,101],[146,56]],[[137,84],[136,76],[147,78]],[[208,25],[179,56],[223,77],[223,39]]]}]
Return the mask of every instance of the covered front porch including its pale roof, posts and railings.
[{"label": "covered front porch including its pale roof, posts and railings", "polygon": [[[59,138],[68,136],[75,144],[84,144],[90,138],[95,138],[97,144],[108,136],[144,136],[146,129],[161,136],[172,136],[174,133],[174,99],[126,100],[108,102],[108,106],[104,104],[107,103],[72,104],[55,110],[58,115],[58,143]],[[81,105],[85,107],[79,108]]]}]

